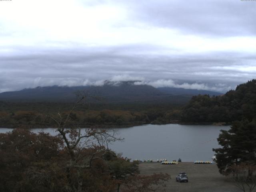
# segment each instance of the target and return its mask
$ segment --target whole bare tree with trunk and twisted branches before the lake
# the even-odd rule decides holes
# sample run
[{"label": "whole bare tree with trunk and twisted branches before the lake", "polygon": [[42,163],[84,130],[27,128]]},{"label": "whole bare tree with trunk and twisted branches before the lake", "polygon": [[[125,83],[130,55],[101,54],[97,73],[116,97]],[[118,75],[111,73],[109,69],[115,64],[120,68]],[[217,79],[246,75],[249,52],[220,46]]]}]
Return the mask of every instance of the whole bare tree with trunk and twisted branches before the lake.
[{"label": "whole bare tree with trunk and twisted branches before the lake", "polygon": [[[73,112],[88,97],[87,94],[83,94],[67,114],[59,111],[55,116],[48,115],[48,118],[56,122],[58,136],[64,140],[65,147],[70,155],[70,162],[66,166],[67,172],[70,172],[71,169],[76,171],[76,181],[74,181],[74,178],[69,178],[70,185],[75,192],[82,191],[82,169],[91,168],[92,161],[101,158],[97,154],[102,154],[102,150],[108,150],[108,144],[122,140],[122,138],[117,137],[118,133],[114,129],[81,129],[76,125],[72,118]],[[97,150],[90,156],[84,156],[80,153],[84,148],[97,148]]]}]

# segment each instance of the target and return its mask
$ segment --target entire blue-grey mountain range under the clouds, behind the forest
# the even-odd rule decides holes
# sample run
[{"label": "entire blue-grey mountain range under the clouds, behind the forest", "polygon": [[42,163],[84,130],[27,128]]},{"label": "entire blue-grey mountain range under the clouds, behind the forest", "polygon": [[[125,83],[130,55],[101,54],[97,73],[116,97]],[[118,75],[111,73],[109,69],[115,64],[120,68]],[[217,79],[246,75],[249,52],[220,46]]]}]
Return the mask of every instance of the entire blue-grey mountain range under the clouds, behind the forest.
[{"label": "entire blue-grey mountain range under the clouds, behind the forest", "polygon": [[[110,82],[103,86],[47,86],[28,88],[20,91],[0,93],[5,101],[60,101],[70,102],[77,99],[76,93],[83,90],[90,96],[100,98],[102,102],[173,102],[185,103],[194,94],[203,90],[184,90],[181,88],[154,88],[149,85],[134,85],[134,81]],[[201,92],[200,92],[201,91]],[[204,91],[212,95],[213,92]],[[220,94],[220,93],[218,93]],[[90,102],[98,102],[89,98]]]}]

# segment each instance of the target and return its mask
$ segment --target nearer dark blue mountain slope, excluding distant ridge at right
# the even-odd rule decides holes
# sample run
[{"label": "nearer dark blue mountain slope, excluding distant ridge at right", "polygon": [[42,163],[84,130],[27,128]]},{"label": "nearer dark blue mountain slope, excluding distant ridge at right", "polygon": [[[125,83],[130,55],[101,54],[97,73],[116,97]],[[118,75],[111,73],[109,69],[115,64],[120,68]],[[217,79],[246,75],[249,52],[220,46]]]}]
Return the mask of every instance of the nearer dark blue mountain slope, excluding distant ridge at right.
[{"label": "nearer dark blue mountain slope, excluding distant ridge at right", "polygon": [[[119,85],[104,84],[103,86],[48,86],[29,88],[20,91],[3,92],[0,100],[8,101],[61,101],[70,102],[76,100],[79,90],[100,97],[104,101],[131,101],[131,100],[155,100],[165,96],[154,87],[147,85],[134,86],[128,82]],[[90,100],[93,102],[93,100]]]}]

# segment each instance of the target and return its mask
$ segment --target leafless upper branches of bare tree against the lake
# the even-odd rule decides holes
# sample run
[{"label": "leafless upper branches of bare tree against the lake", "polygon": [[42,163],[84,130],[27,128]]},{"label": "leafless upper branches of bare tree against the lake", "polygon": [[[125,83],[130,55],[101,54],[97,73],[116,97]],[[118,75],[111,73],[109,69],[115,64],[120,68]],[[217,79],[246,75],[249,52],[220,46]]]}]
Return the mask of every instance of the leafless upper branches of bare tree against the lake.
[{"label": "leafless upper branches of bare tree against the lake", "polygon": [[[48,115],[48,118],[51,118],[57,124],[57,132],[59,136],[63,138],[66,148],[73,161],[77,162],[76,158],[79,156],[79,150],[86,147],[92,146],[106,146],[108,144],[115,142],[117,140],[123,140],[118,138],[118,132],[116,130],[102,130],[102,129],[92,129],[92,128],[83,128],[73,124],[71,118],[72,112],[76,107],[81,104],[88,96],[85,92],[80,92],[80,99],[74,104],[72,109],[68,114],[63,115],[60,111],[58,112],[58,118],[53,115]],[[97,98],[96,98],[97,99]]]}]

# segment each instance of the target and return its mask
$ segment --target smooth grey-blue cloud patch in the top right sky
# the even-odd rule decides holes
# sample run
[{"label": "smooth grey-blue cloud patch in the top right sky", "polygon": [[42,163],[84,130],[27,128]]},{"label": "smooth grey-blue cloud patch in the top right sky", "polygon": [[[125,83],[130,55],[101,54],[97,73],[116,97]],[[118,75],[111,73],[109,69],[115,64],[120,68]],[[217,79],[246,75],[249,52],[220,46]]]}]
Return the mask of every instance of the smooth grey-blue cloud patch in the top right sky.
[{"label": "smooth grey-blue cloud patch in the top right sky", "polygon": [[255,36],[256,3],[240,0],[129,1],[133,19],[185,34]]}]

